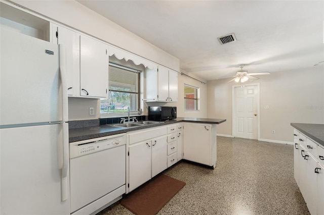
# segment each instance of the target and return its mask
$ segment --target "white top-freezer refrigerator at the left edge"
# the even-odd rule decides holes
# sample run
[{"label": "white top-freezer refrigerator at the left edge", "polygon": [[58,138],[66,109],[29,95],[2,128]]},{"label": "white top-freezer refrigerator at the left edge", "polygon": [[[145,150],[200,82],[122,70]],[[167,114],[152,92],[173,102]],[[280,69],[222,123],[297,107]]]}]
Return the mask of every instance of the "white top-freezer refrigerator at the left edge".
[{"label": "white top-freezer refrigerator at the left edge", "polygon": [[69,214],[63,47],[1,28],[0,214]]}]

